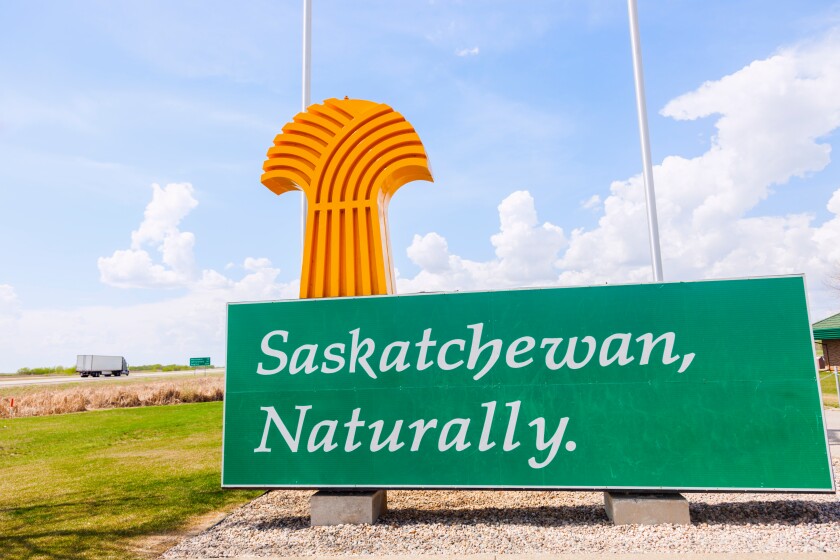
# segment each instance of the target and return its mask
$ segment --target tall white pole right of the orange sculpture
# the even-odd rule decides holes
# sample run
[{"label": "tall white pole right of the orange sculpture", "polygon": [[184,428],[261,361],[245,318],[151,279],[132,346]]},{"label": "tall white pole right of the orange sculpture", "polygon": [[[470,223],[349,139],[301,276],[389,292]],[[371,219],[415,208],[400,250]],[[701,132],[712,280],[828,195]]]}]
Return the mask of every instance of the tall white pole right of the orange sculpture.
[{"label": "tall white pole right of the orange sculpture", "polygon": [[659,253],[659,221],[656,217],[656,194],[653,190],[653,165],[650,157],[650,138],[647,128],[645,102],[645,77],[642,72],[642,45],[639,41],[639,19],[636,15],[636,0],[627,0],[630,12],[630,43],[633,47],[633,77],[636,81],[636,112],[639,115],[639,138],[642,143],[642,165],[644,166],[645,200],[648,211],[648,234],[650,237],[650,260],[653,279],[662,282],[662,256]]}]

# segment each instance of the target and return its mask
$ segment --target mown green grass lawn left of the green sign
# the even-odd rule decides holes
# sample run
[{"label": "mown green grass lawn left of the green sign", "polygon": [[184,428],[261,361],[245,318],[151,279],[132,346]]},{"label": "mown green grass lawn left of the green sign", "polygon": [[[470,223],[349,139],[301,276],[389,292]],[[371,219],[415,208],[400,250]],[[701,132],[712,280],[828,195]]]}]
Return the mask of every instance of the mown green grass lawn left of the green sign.
[{"label": "mown green grass lawn left of the green sign", "polygon": [[0,420],[0,557],[131,558],[259,492],[220,488],[222,403]]}]

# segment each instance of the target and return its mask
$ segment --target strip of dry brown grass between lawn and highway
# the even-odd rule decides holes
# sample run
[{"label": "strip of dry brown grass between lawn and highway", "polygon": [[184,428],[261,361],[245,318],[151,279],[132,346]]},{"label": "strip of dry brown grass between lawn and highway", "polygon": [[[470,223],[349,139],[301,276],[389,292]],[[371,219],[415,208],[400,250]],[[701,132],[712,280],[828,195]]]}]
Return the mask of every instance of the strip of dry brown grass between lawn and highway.
[{"label": "strip of dry brown grass between lawn and highway", "polygon": [[158,380],[130,385],[85,383],[63,389],[47,388],[15,398],[0,398],[0,418],[47,416],[105,408],[157,406],[220,401],[223,377]]}]

